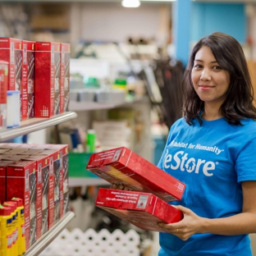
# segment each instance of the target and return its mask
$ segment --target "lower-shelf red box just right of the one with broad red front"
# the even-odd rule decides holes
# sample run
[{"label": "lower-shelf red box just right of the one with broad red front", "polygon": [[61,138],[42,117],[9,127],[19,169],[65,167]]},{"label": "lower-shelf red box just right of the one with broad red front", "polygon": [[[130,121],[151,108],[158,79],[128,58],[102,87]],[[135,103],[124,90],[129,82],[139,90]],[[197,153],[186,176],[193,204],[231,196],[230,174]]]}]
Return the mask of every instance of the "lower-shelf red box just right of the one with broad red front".
[{"label": "lower-shelf red box just right of the one with broad red front", "polygon": [[48,176],[49,157],[33,155],[24,158],[25,161],[36,162],[36,239],[48,231]]}]

